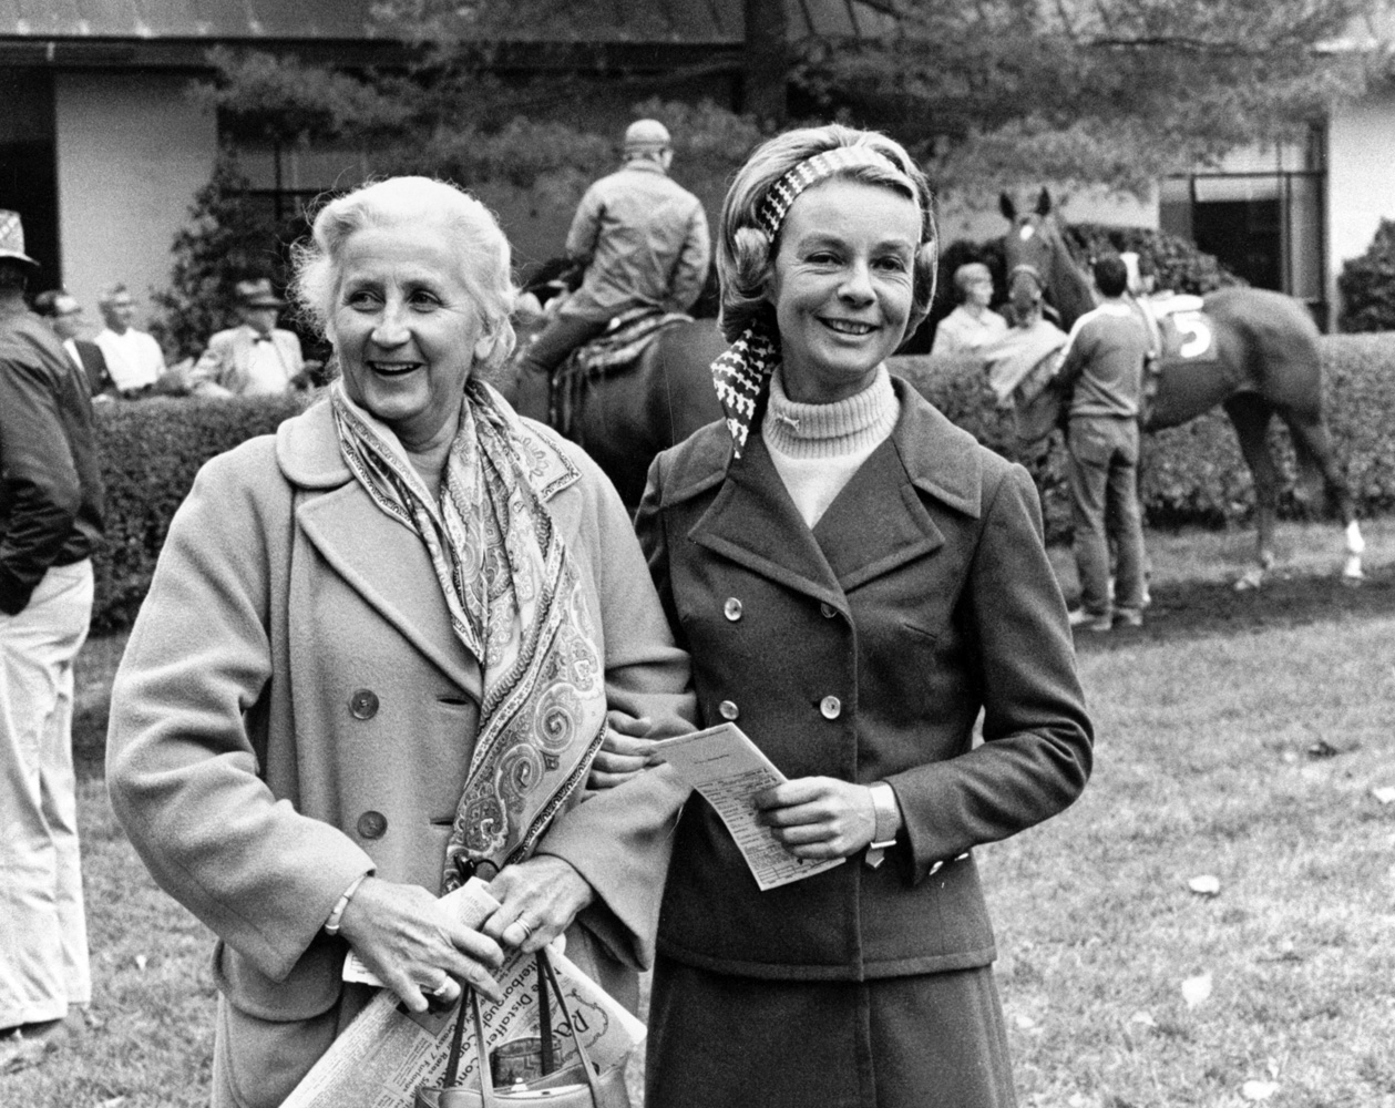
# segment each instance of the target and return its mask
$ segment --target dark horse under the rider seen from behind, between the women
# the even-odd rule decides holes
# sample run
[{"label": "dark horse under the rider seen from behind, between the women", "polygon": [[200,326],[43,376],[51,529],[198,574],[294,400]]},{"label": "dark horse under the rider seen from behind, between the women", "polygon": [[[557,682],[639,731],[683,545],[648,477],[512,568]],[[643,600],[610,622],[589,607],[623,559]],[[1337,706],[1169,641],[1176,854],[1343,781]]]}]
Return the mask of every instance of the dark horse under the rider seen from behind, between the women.
[{"label": "dark horse under the rider seen from behind, between the women", "polygon": [[[520,350],[525,345],[526,335]],[[566,405],[548,402],[547,384],[516,380],[519,354],[501,391],[522,414],[551,423],[582,447],[633,512],[654,455],[721,419],[711,363],[725,349],[716,320],[686,320],[658,331],[628,366],[575,375],[568,366],[561,367],[554,382],[571,382]]]}]

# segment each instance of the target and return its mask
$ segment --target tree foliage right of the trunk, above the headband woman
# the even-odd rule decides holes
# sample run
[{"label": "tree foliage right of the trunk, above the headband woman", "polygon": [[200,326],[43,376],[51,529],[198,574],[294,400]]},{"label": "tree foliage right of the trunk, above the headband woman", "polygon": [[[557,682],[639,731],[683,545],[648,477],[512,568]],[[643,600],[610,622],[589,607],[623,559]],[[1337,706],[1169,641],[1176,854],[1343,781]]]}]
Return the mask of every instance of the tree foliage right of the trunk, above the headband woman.
[{"label": "tree foliage right of the trunk, above the headband woman", "polygon": [[942,188],[1143,191],[1320,117],[1373,56],[1315,49],[1364,0],[882,0],[880,29],[802,45],[829,107],[907,120]]}]

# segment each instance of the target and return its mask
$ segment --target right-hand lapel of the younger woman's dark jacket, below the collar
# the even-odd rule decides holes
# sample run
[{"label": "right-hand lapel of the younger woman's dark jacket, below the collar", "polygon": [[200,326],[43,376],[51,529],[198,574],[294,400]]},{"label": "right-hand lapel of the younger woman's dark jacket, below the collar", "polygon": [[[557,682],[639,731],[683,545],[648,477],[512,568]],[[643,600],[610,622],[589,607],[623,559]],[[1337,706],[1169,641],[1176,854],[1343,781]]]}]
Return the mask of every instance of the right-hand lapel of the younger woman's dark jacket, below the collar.
[{"label": "right-hand lapel of the younger woman's dark jacket, below the collar", "polygon": [[813,536],[844,592],[944,544],[890,440],[852,474]]}]

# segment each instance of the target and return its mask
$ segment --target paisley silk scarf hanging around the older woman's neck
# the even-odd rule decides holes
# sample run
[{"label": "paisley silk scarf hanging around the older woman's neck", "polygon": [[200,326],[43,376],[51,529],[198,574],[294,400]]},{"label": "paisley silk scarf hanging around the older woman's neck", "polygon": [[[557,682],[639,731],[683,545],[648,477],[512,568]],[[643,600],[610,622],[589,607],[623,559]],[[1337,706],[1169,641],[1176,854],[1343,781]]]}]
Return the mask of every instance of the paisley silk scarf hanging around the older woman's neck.
[{"label": "paisley silk scarf hanging around the older woman's neck", "polygon": [[442,889],[526,858],[586,779],[605,731],[604,663],[576,564],[545,500],[580,474],[470,381],[439,501],[396,437],[331,388],[339,449],[374,504],[425,544],[451,625],[484,674],[480,728]]}]

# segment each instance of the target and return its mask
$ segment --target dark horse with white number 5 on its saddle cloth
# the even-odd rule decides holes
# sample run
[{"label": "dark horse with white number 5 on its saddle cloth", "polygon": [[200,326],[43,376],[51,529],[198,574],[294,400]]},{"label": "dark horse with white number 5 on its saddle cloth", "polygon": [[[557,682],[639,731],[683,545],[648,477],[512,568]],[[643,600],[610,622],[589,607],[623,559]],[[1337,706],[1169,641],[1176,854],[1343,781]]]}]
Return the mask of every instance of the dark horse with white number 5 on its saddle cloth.
[{"label": "dark horse with white number 5 on its saddle cloth", "polygon": [[[1007,269],[1027,264],[1045,278],[1046,299],[1069,331],[1095,306],[1089,279],[1071,257],[1043,188],[1032,211],[1018,212],[1011,197],[1000,208],[1013,225],[1004,239]],[[1366,543],[1342,466],[1322,417],[1322,367],[1318,329],[1307,308],[1282,293],[1226,287],[1207,293],[1200,313],[1177,317],[1183,342],[1165,353],[1147,398],[1144,430],[1177,427],[1221,405],[1240,441],[1240,452],[1254,477],[1256,565],[1236,582],[1258,587],[1274,567],[1274,525],[1279,502],[1279,467],[1269,451],[1268,430],[1278,416],[1289,430],[1299,459],[1300,504],[1313,500],[1317,486],[1334,502],[1346,532],[1343,579],[1362,578]],[[1149,387],[1149,389],[1152,385]],[[1048,385],[1023,410],[1018,433],[1045,437],[1059,423],[1069,396]],[[1031,427],[1031,431],[1024,431]]]}]

